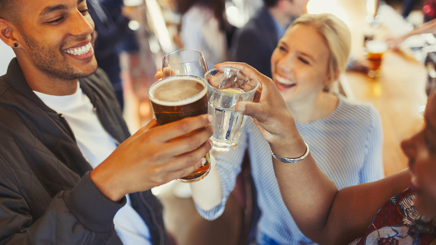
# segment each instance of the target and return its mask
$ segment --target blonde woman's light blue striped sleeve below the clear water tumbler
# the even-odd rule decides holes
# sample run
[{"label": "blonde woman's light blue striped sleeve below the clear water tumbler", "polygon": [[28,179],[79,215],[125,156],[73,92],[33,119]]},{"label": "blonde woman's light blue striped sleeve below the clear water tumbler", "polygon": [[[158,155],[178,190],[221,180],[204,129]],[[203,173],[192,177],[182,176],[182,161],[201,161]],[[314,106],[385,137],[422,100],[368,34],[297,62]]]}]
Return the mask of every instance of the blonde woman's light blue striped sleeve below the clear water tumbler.
[{"label": "blonde woman's light blue striped sleeve below the clear water tumbler", "polygon": [[[247,121],[247,124],[249,122]],[[197,204],[198,213],[205,219],[214,220],[222,215],[225,209],[225,203],[227,201],[230,192],[233,191],[236,184],[236,177],[239,172],[241,172],[241,164],[245,154],[245,148],[247,148],[247,125],[245,125],[244,131],[242,132],[241,138],[239,138],[238,146],[232,151],[228,152],[216,152],[214,151],[214,156],[216,159],[216,166],[218,168],[218,175],[221,182],[222,198],[221,203],[212,208],[211,210],[205,211],[201,209]]]}]

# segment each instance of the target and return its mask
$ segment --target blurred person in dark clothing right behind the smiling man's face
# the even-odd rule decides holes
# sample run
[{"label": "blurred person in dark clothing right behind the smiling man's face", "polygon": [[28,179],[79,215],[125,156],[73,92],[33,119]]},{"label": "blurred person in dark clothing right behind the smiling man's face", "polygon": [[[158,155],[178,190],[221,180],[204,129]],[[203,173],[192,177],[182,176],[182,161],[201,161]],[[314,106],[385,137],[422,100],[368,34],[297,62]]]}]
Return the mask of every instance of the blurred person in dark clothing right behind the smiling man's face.
[{"label": "blurred person in dark clothing right behind the smiling man's face", "polygon": [[[128,24],[133,18],[122,0],[87,0],[95,23],[95,58],[109,77],[121,110],[124,108],[123,83],[120,77],[119,52],[138,52],[138,44]],[[108,7],[108,8],[106,8]]]}]

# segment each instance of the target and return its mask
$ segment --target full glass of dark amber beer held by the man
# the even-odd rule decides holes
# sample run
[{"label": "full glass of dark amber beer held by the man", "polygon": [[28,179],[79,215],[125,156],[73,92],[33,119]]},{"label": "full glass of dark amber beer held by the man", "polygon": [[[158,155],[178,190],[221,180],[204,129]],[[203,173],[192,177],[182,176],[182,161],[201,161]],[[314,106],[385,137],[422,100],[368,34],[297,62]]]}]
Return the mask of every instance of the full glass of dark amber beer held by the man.
[{"label": "full glass of dark amber beer held by the man", "polygon": [[[163,78],[150,86],[148,96],[158,125],[208,113],[208,89],[202,77],[177,75]],[[209,153],[205,158],[206,162],[200,168],[177,180],[191,183],[206,177],[211,167]]]}]

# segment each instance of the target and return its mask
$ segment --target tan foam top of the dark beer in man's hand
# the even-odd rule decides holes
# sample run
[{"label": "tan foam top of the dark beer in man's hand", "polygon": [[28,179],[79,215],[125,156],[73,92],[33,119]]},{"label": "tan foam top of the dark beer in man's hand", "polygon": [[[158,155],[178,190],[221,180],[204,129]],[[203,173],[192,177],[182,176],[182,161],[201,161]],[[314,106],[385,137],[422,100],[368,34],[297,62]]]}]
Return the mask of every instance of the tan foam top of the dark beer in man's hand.
[{"label": "tan foam top of the dark beer in man's hand", "polygon": [[149,95],[156,104],[177,106],[198,101],[207,91],[200,77],[174,76],[153,84]]}]

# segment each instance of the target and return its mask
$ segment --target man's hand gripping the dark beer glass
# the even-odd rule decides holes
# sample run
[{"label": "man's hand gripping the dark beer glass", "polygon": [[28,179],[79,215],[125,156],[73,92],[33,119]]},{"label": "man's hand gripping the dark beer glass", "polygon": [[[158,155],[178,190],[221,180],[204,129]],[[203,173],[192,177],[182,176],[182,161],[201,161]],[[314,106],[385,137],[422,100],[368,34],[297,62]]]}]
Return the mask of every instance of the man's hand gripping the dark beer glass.
[{"label": "man's hand gripping the dark beer glass", "polygon": [[209,114],[161,126],[153,120],[120,144],[90,177],[112,201],[184,177],[204,163],[212,148],[212,120]]}]

